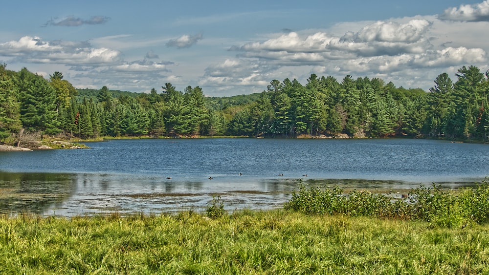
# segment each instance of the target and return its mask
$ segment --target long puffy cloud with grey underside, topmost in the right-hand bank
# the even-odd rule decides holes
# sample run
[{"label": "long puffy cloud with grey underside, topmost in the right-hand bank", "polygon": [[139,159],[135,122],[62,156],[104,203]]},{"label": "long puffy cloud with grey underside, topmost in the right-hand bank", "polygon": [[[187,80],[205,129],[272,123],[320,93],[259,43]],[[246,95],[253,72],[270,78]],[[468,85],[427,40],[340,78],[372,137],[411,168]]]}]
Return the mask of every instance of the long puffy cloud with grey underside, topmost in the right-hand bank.
[{"label": "long puffy cloud with grey underside, topmost in the right-hand bank", "polygon": [[[230,50],[262,52],[268,58],[270,54],[266,52],[280,52],[280,55],[277,55],[280,57],[287,53],[291,61],[310,62],[321,61],[321,56],[334,58],[338,53],[342,53],[344,57],[345,52],[359,56],[421,53],[431,46],[425,37],[430,26],[431,22],[418,19],[404,24],[378,21],[363,27],[356,33],[347,32],[342,37],[335,37],[325,32],[301,37],[297,32],[290,32],[265,42],[250,42],[243,46],[234,46]],[[256,54],[254,56],[259,57]]]}]

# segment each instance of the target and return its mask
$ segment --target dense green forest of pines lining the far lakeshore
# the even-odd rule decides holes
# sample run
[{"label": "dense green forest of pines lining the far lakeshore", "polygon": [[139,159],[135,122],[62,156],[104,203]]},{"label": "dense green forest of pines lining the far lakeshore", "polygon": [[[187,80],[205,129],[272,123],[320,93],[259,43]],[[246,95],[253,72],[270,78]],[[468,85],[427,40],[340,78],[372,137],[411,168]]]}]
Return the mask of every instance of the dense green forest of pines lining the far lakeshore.
[{"label": "dense green forest of pines lining the far lakeshore", "polygon": [[25,134],[104,136],[390,137],[488,141],[489,71],[441,73],[429,91],[379,78],[307,83],[271,80],[262,93],[205,97],[199,86],[171,83],[148,93],[77,89],[54,72],[45,79],[0,64],[0,144]]}]

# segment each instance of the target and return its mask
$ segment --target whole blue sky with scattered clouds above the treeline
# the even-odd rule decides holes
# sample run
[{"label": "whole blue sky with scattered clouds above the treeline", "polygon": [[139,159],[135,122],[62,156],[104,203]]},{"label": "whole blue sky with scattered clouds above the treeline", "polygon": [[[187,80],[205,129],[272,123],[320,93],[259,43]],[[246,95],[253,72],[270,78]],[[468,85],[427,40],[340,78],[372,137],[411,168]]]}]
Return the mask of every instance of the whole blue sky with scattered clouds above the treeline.
[{"label": "whole blue sky with scattered clouds above the treeline", "polygon": [[489,0],[19,0],[2,3],[0,63],[77,88],[206,96],[311,74],[428,90],[489,68]]}]

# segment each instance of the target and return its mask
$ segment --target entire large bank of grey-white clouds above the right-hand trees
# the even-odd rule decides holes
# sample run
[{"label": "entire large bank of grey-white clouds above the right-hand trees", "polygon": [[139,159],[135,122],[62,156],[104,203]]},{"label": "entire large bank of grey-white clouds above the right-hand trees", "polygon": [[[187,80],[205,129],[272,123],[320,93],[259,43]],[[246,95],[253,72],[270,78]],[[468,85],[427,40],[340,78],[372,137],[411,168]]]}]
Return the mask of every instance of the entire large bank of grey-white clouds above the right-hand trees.
[{"label": "entire large bank of grey-white clouds above the right-hand trees", "polygon": [[[314,33],[275,33],[263,41],[230,47],[229,51],[237,53],[236,59],[209,66],[204,83],[216,87],[234,83],[239,87],[286,77],[306,81],[311,73],[316,73],[379,77],[397,85],[427,88],[444,71],[456,72],[467,64],[487,64],[489,43],[472,41],[483,27],[459,24],[435,16],[417,16],[345,22]],[[458,39],[460,34],[464,34],[463,39]]]}]

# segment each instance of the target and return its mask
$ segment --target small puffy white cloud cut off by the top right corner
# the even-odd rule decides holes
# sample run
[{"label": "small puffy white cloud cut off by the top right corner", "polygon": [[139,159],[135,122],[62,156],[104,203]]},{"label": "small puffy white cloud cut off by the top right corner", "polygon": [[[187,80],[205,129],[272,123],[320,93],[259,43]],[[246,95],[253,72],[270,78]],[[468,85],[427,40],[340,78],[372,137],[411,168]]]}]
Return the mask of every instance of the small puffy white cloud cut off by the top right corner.
[{"label": "small puffy white cloud cut off by the top right corner", "polygon": [[489,21],[489,0],[473,5],[460,5],[458,8],[447,8],[438,18],[449,21]]}]

